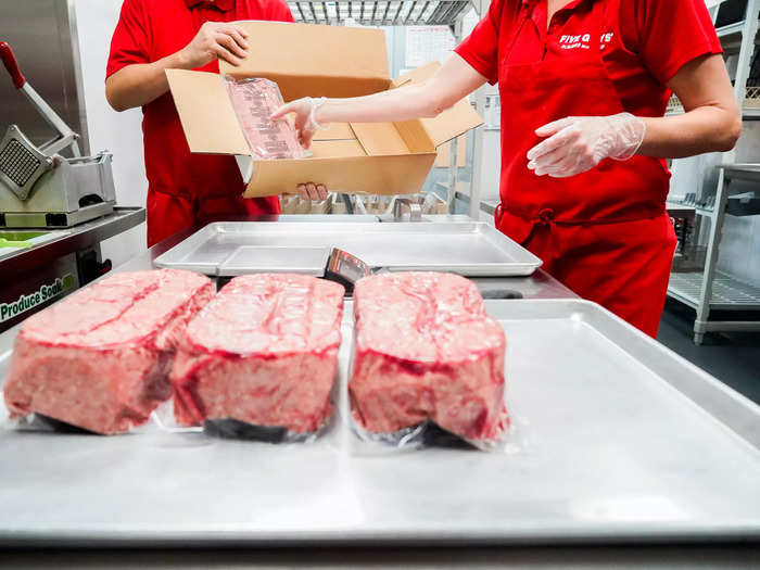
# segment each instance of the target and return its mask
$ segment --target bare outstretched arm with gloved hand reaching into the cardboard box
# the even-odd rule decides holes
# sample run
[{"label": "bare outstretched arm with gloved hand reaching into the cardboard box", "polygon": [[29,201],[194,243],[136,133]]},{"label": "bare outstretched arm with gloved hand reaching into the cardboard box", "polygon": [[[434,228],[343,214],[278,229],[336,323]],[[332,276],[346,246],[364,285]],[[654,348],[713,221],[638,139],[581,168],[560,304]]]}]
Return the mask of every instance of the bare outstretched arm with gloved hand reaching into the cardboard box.
[{"label": "bare outstretched arm with gloved hand reaching into the cardboard box", "polygon": [[328,99],[317,106],[313,117],[309,117],[313,101],[299,99],[277,110],[273,119],[294,113],[295,128],[301,143],[308,148],[316,130],[314,123],[317,125],[350,122],[381,123],[434,117],[484,83],[485,77],[476,72],[458,54],[453,53],[425,83],[366,97]]}]

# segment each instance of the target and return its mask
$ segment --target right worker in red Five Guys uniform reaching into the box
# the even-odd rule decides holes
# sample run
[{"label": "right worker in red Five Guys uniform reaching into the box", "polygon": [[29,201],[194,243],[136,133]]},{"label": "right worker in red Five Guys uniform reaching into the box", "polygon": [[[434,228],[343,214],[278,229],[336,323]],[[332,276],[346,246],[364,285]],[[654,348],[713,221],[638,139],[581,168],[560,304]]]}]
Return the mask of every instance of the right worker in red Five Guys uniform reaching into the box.
[{"label": "right worker in red Five Guys uniform reaching into the box", "polygon": [[[427,83],[284,105],[313,124],[435,116],[502,99],[496,225],[544,268],[655,337],[675,248],[667,157],[727,151],[738,105],[704,0],[493,0]],[[685,113],[664,117],[671,91]]]}]

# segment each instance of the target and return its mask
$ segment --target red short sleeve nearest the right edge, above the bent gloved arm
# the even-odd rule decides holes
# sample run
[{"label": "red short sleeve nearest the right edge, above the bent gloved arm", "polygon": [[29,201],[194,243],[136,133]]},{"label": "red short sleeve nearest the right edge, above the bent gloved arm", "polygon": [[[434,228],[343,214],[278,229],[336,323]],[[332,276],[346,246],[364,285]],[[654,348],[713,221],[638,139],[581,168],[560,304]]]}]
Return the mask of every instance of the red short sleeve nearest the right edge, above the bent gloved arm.
[{"label": "red short sleeve nearest the right edge, above the bent gloved arm", "polygon": [[705,0],[622,0],[621,8],[625,46],[662,85],[700,55],[723,53]]}]

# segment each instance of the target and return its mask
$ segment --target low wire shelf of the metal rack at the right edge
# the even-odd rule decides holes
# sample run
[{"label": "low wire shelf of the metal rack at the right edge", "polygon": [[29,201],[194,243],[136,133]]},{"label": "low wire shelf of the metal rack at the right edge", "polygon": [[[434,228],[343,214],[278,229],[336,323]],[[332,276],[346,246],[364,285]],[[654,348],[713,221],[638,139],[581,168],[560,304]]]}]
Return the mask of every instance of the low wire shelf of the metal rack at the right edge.
[{"label": "low wire shelf of the metal rack at the right edge", "polygon": [[[701,273],[670,274],[668,292],[693,307],[699,304],[704,276]],[[712,281],[710,308],[760,308],[760,287],[745,283],[726,274],[715,271]]]}]

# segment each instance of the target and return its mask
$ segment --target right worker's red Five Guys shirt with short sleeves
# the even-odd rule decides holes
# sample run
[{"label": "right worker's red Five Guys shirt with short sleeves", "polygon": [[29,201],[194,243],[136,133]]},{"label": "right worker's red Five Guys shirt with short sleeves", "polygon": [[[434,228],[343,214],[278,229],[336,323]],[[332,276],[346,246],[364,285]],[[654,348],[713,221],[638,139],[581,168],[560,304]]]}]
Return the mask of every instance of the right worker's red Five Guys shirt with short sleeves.
[{"label": "right worker's red Five Guys shirt with short sleeves", "polygon": [[[561,59],[584,49],[594,31],[591,3],[607,2],[601,59],[623,107],[638,116],[662,116],[670,98],[666,84],[689,61],[721,53],[705,0],[572,0],[546,25],[547,0],[494,0],[485,17],[456,52],[492,85],[498,62]],[[522,8],[531,17],[518,33]],[[515,86],[519,89],[519,86]]]}]

